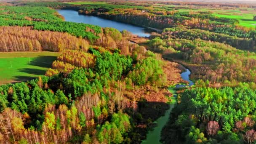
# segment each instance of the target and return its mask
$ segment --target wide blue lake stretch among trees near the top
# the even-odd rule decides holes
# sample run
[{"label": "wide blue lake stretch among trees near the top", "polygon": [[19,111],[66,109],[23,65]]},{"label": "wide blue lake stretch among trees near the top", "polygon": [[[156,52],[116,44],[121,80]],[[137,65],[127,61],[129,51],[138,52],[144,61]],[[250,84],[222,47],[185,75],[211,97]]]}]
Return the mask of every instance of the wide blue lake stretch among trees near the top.
[{"label": "wide blue lake stretch among trees near the top", "polygon": [[[59,14],[64,16],[65,21],[77,22],[77,23],[85,23],[85,24],[93,24],[100,27],[113,27],[118,29],[120,32],[123,30],[128,30],[139,37],[149,37],[150,30],[144,27],[135,26],[132,24],[125,24],[117,21],[111,21],[108,19],[103,19],[97,16],[87,16],[83,14],[79,14],[74,10],[57,10]],[[151,30],[152,32],[152,30]]]}]

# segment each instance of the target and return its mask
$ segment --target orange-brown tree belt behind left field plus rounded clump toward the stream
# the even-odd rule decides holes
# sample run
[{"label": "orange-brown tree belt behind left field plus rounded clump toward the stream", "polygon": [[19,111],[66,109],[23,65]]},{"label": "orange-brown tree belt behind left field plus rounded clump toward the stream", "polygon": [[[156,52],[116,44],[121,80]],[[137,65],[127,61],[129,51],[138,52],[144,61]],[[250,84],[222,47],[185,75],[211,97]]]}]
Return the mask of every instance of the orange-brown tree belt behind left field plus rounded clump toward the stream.
[{"label": "orange-brown tree belt behind left field plus rounded clump toward the stream", "polygon": [[[67,49],[81,51],[88,50],[88,41],[79,36],[82,34],[77,34],[77,36],[79,37],[75,37],[68,33],[64,33],[64,31],[58,29],[48,29],[46,31],[46,29],[44,28],[34,27],[34,29],[37,28],[41,30],[33,30],[33,27],[0,27],[0,35],[5,35],[5,37],[0,38],[0,51],[59,52]],[[109,51],[114,51],[114,49],[119,48],[123,54],[130,53],[131,49],[129,49],[129,46],[131,45],[131,43],[129,43],[128,40],[123,37],[122,33],[120,33],[117,29],[104,28],[102,29],[102,31],[103,33],[100,33],[99,35],[95,34],[98,36],[93,35],[93,37],[95,37],[95,40],[92,44],[107,48],[109,49]],[[92,29],[91,32],[96,33]]]}]

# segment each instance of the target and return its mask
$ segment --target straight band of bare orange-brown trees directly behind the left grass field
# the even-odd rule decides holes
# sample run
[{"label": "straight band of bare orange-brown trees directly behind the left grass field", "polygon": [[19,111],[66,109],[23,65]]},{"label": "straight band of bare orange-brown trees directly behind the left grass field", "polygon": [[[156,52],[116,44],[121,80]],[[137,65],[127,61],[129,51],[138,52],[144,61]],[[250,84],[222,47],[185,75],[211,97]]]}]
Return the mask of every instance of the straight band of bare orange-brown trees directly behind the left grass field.
[{"label": "straight band of bare orange-brown trees directly behind the left grass field", "polygon": [[0,51],[87,51],[88,41],[67,33],[37,31],[32,27],[0,27]]}]

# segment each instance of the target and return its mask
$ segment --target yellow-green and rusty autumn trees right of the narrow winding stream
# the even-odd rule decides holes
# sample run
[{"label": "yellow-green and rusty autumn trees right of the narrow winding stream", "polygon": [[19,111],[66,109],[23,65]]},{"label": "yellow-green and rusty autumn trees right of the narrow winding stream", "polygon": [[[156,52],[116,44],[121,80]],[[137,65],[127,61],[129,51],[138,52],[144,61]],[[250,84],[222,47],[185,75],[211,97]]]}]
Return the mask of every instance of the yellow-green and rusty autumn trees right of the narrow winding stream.
[{"label": "yellow-green and rusty autumn trees right of the narrow winding stream", "polygon": [[229,45],[200,39],[150,40],[152,51],[163,53],[167,59],[184,61],[191,65],[194,79],[209,80],[211,83],[236,85],[237,81],[256,82],[254,78],[255,53],[241,51]]}]

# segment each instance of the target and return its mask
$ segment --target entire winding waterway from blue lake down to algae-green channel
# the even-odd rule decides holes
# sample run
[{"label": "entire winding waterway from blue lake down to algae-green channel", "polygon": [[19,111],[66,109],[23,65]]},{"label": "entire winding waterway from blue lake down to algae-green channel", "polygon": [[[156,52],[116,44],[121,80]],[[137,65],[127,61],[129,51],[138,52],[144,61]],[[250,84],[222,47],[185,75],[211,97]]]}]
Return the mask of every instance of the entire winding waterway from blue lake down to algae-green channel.
[{"label": "entire winding waterway from blue lake down to algae-green channel", "polygon": [[[140,37],[149,37],[150,34],[146,31],[144,27],[138,27],[131,24],[124,24],[117,21],[111,21],[107,19],[102,19],[96,16],[86,16],[86,15],[80,15],[77,11],[73,10],[58,10],[58,12],[64,16],[66,21],[72,21],[72,22],[78,22],[78,23],[85,23],[85,24],[93,24],[98,25],[100,27],[113,27],[115,29],[118,29],[119,31],[128,30],[132,32],[135,35],[138,35]],[[189,82],[189,86],[194,85],[194,83],[189,80],[189,75],[191,72],[189,69],[186,69],[185,72],[181,73],[181,77],[183,80],[186,80]],[[175,87],[185,87],[186,85],[177,84]],[[170,92],[173,93],[174,96],[176,96],[175,88],[170,88]],[[165,112],[165,115],[162,117],[159,117],[155,123],[157,123],[157,126],[153,129],[153,131],[149,131],[147,134],[147,139],[143,141],[144,144],[160,144],[160,136],[161,136],[161,130],[164,127],[164,125],[168,122],[169,115],[171,113],[171,110],[173,109],[174,104],[170,104],[170,108]]]}]

